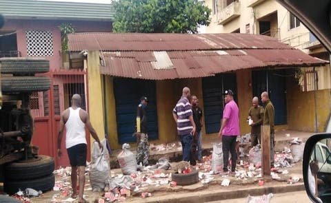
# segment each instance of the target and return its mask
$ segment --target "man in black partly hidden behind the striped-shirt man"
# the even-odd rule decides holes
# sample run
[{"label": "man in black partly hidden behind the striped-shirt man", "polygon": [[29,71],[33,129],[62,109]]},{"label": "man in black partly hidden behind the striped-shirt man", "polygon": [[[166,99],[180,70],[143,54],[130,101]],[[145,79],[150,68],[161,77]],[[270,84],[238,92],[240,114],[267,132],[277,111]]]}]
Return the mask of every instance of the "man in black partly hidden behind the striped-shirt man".
[{"label": "man in black partly hidden behind the striped-shirt man", "polygon": [[[194,141],[196,143],[193,144],[192,150],[197,151],[197,160],[201,162],[202,159],[202,134],[201,134],[201,127],[203,126],[202,121],[202,109],[199,107],[199,99],[197,96],[192,96],[192,113],[193,113],[193,120],[196,127],[197,132],[195,133],[196,138],[194,138]],[[194,148],[195,147],[195,148]],[[192,159],[192,158],[191,158]]]}]

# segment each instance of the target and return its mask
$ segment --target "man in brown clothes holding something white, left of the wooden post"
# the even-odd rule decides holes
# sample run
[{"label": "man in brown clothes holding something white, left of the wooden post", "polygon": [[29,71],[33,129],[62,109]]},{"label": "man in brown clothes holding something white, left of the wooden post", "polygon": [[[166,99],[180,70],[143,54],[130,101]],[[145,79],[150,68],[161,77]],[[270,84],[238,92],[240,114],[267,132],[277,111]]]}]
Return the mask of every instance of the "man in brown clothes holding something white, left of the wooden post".
[{"label": "man in brown clothes holding something white, left of the wooden post", "polygon": [[248,119],[252,120],[250,124],[250,142],[252,147],[261,144],[261,125],[263,124],[263,107],[259,105],[259,98],[255,96],[252,100],[252,107],[248,111]]}]

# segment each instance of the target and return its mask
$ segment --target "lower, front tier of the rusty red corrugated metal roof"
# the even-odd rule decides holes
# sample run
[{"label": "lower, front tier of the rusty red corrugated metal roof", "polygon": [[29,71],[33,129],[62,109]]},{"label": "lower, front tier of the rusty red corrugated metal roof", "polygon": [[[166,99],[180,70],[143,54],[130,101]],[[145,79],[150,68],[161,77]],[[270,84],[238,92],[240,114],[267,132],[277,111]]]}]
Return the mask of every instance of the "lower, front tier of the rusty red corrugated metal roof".
[{"label": "lower, front tier of the rusty red corrugated metal roof", "polygon": [[[141,53],[152,56],[153,52],[104,52],[105,66],[101,74],[126,78],[165,80],[173,78],[198,78],[214,76],[229,72],[256,67],[293,67],[312,66],[325,63],[299,50],[227,50],[219,55],[215,51],[168,51],[173,64],[172,69],[157,70],[153,67],[156,58],[150,61],[139,61]],[[239,54],[241,53],[241,54]],[[246,53],[246,54],[243,54]],[[180,57],[178,57],[180,56]]]}]

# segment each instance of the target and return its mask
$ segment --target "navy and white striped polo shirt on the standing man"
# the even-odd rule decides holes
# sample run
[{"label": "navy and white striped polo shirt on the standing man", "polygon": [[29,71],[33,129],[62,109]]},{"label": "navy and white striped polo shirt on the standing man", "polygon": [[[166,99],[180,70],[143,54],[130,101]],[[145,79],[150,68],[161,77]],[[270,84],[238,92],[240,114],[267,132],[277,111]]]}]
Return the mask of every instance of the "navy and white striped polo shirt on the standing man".
[{"label": "navy and white striped polo shirt on the standing man", "polygon": [[188,102],[188,98],[181,97],[176,107],[173,109],[174,113],[177,114],[177,131],[180,136],[189,134],[193,126],[190,122],[189,117],[192,115],[192,107]]}]

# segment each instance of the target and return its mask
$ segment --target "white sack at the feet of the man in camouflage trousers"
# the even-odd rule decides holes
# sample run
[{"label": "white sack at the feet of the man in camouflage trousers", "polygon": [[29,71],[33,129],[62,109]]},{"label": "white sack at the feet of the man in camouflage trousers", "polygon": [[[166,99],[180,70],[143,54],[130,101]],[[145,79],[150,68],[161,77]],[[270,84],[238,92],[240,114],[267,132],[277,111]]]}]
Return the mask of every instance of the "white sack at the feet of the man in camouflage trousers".
[{"label": "white sack at the feet of the man in camouflage trousers", "polygon": [[136,156],[130,151],[129,144],[123,144],[122,151],[117,156],[117,160],[119,161],[119,166],[122,169],[122,173],[124,175],[131,175],[132,173],[137,172],[137,160]]}]

